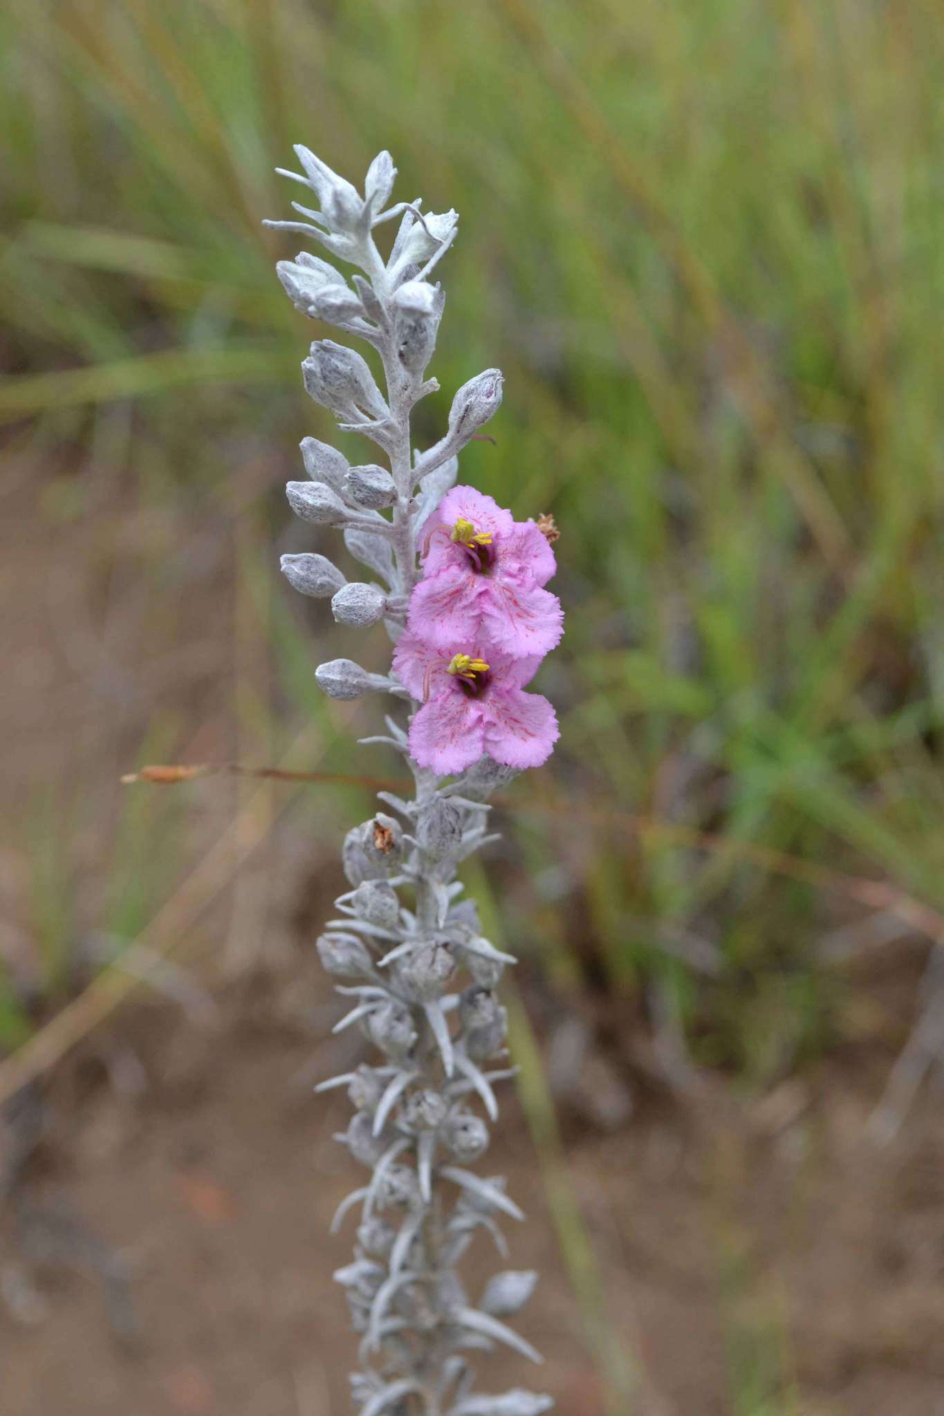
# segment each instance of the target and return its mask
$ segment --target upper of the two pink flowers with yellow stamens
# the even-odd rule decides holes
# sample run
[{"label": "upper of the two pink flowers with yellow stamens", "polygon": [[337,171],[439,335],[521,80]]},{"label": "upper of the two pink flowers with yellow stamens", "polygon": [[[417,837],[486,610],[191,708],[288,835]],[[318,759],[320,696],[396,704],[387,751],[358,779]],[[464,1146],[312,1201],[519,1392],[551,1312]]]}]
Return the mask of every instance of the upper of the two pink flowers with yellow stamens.
[{"label": "upper of the two pink flowers with yellow stamens", "polygon": [[419,539],[423,579],[408,624],[420,639],[437,649],[488,641],[514,657],[546,654],[560,640],[560,602],[542,589],[556,561],[534,521],[515,521],[474,487],[453,487]]}]

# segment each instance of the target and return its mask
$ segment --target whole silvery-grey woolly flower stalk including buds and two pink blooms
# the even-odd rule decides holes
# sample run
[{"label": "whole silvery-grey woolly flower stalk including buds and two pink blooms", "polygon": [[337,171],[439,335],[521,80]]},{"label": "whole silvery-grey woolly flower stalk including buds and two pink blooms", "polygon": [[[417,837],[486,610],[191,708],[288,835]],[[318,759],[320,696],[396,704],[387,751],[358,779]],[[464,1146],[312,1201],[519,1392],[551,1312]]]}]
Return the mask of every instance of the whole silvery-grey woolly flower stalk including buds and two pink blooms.
[{"label": "whole silvery-grey woolly flower stalk including buds and two pink blooms", "polygon": [[[343,528],[347,549],[378,579],[348,583],[313,554],[286,555],[282,568],[303,593],[331,596],[340,623],[386,624],[392,671],[338,658],[316,675],[333,698],[385,692],[406,701],[409,731],[388,716],[386,733],[362,741],[399,752],[416,787],[412,801],[379,793],[395,814],[378,811],[348,831],[351,889],[318,939],[324,967],[347,980],[337,991],[351,1003],[334,1031],[357,1025],[379,1052],[376,1065],[318,1087],[348,1089],[355,1110],[338,1138],[368,1171],[334,1221],[337,1228],[359,1211],[354,1262],[335,1273],[361,1334],[351,1392],[361,1416],[536,1416],[551,1398],[519,1388],[477,1395],[468,1361],[470,1351],[501,1344],[541,1358],[504,1321],[536,1276],[500,1273],[473,1303],[456,1270],[480,1231],[504,1257],[498,1221],[524,1218],[501,1177],[468,1168],[488,1147],[480,1113],[497,1119],[494,1085],[512,1075],[494,990],[515,960],[481,936],[456,871],[495,840],[488,794],[543,762],[558,736],[548,701],[524,691],[562,633],[560,606],[543,589],[556,532],[549,518],[515,523],[491,497],[454,486],[459,453],[501,402],[498,370],[459,389],[433,447],[410,446],[410,411],[439,388],[426,365],[444,295],[429,278],[454,239],[456,214],[423,214],[419,201],[386,208],[389,153],[371,163],[364,195],[306,147],[296,153],[304,176],[284,176],[314,191],[320,210],[296,202],[307,221],[267,225],[304,232],[359,273],[348,283],[303,252],[279,262],[279,278],[299,310],[374,347],[386,388],[359,354],[331,340],[311,344],[304,385],[344,430],[375,442],[388,466],[350,466],[306,438],[310,480],[289,483],[293,510]],[[399,231],[384,261],[374,232],[395,217]]]}]

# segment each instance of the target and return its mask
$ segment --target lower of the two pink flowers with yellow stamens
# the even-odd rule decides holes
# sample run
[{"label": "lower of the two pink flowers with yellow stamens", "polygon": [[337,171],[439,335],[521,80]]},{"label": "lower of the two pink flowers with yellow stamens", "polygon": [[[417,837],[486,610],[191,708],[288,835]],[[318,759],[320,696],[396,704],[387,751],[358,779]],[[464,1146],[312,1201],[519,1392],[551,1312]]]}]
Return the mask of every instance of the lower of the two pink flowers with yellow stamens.
[{"label": "lower of the two pink flowers with yellow stamens", "polygon": [[538,767],[559,738],[553,708],[524,692],[541,656],[511,658],[477,649],[443,653],[408,630],[393,671],[423,707],[410,724],[410,753],[420,767],[461,772],[485,753],[508,767]]}]

